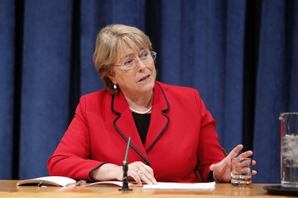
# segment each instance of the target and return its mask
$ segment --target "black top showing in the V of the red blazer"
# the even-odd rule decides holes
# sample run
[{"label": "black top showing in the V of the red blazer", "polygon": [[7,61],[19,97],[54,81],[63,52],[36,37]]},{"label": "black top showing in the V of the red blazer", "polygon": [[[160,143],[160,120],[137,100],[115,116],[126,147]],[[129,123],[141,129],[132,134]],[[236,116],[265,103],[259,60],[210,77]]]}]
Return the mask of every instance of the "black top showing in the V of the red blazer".
[{"label": "black top showing in the V of the red blazer", "polygon": [[135,120],[136,127],[138,129],[138,134],[140,134],[140,139],[142,140],[142,143],[145,146],[151,114],[150,113],[138,114],[136,112],[132,112],[132,113],[133,113],[133,120]]}]

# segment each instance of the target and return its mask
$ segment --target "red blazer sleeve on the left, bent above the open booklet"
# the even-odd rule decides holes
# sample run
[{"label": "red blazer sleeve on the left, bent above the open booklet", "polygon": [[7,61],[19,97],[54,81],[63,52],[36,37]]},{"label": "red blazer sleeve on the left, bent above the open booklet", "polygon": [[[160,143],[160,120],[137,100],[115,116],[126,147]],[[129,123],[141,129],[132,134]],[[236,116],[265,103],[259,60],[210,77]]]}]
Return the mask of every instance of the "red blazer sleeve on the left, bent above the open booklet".
[{"label": "red blazer sleeve on the left, bent above the open booklet", "polygon": [[89,173],[104,162],[89,159],[90,135],[86,117],[86,99],[82,96],[75,117],[62,137],[60,144],[48,159],[50,175],[92,180]]}]

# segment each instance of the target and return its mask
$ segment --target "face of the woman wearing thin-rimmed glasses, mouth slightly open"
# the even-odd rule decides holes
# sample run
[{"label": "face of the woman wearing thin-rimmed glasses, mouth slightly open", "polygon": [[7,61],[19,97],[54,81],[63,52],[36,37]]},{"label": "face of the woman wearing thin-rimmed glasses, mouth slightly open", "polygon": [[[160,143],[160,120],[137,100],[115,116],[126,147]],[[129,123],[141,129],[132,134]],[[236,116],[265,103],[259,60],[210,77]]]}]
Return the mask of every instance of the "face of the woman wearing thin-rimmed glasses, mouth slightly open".
[{"label": "face of the woman wearing thin-rimmed glasses, mouth slightly open", "polygon": [[[132,49],[119,54],[114,65],[122,65],[129,59],[139,59],[143,54],[150,53],[148,49],[141,49],[138,52]],[[154,61],[147,64],[139,59],[133,69],[123,69],[122,66],[114,66],[109,78],[121,89],[123,95],[129,98],[138,98],[153,90],[156,78]]]}]

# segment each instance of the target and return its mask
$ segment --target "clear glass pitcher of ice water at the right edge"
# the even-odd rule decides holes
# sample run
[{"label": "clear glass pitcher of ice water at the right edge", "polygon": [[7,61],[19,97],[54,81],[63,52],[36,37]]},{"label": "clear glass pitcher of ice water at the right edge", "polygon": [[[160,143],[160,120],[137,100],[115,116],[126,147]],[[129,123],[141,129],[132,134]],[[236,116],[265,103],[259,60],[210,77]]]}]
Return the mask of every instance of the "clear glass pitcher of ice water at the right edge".
[{"label": "clear glass pitcher of ice water at the right edge", "polygon": [[281,122],[281,184],[298,188],[298,112],[282,112]]}]

